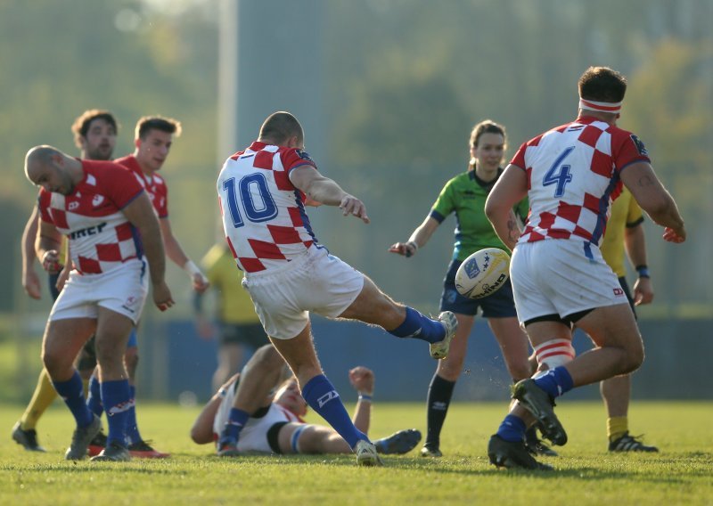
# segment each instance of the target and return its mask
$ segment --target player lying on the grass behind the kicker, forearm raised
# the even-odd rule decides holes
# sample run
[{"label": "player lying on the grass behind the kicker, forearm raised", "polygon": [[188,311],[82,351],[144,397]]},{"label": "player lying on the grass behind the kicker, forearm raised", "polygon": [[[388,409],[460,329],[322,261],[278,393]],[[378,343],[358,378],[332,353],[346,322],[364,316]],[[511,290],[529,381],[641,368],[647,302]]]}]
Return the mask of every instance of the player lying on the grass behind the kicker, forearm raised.
[{"label": "player lying on the grass behind the kicker, forearm raised", "polygon": [[[262,347],[259,354],[266,354],[275,348]],[[223,430],[241,380],[250,380],[250,374],[259,374],[256,367],[246,368],[242,374],[235,374],[203,408],[193,423],[191,438],[198,445],[216,442]],[[349,381],[359,393],[352,421],[356,428],[367,434],[372,411],[373,371],[359,366],[349,371]],[[246,453],[352,453],[342,437],[331,428],[307,423],[302,417],[307,413],[307,403],[299,394],[297,380],[292,376],[277,388],[275,395],[265,396],[255,392],[264,401],[242,429],[237,451],[219,453],[234,457]],[[421,432],[414,428],[399,430],[397,433],[374,441],[379,453],[407,453],[421,441]]]}]

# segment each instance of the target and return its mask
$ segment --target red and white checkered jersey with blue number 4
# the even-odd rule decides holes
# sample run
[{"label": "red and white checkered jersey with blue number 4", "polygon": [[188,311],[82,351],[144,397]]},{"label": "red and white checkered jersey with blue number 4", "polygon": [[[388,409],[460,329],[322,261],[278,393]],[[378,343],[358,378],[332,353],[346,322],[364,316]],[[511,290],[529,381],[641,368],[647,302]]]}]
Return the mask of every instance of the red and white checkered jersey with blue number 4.
[{"label": "red and white checkered jersey with blue number 4", "polygon": [[520,242],[578,237],[598,245],[619,173],[650,161],[635,135],[580,117],[520,146],[511,163],[528,176],[529,219]]}]

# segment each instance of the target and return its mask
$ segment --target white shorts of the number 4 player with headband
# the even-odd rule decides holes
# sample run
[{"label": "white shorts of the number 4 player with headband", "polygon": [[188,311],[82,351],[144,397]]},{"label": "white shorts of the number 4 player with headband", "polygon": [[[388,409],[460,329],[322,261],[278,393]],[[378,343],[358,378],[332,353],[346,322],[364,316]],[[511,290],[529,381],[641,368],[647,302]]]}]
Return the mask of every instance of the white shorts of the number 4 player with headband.
[{"label": "white shorts of the number 4 player with headband", "polygon": [[596,307],[628,304],[619,278],[594,245],[577,239],[518,244],[510,277],[520,323],[549,314],[560,317]]}]

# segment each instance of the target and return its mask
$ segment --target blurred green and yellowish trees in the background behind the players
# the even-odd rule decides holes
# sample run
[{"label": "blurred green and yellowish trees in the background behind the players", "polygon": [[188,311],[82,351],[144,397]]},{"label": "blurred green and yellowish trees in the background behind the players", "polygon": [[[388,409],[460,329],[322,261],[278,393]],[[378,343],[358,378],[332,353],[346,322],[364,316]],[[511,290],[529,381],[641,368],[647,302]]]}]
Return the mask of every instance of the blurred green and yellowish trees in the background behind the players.
[{"label": "blurred green and yellowish trees in the background behind the players", "polygon": [[[22,173],[24,153],[39,143],[77,153],[70,125],[88,108],[119,118],[117,156],[132,151],[133,126],[144,114],[183,122],[163,169],[172,224],[194,258],[216,240],[215,177],[230,154],[217,152],[216,140],[219,4],[0,3],[0,311],[39,307],[19,287],[20,233],[36,194]],[[317,237],[333,253],[394,297],[435,312],[455,220],[413,259],[386,249],[406,240],[447,179],[465,169],[471,126],[483,118],[503,123],[512,155],[530,136],[572,119],[578,76],[589,65],[608,65],[629,78],[620,126],[646,143],[691,232],[683,247],[672,247],[647,224],[656,307],[711,314],[713,0],[321,4],[328,149],[317,163],[362,197],[373,219],[363,226],[333,209],[311,211]],[[309,29],[294,27],[295,44]],[[284,86],[291,78],[299,76],[286,76]],[[184,274],[169,268],[169,282],[185,300]],[[188,311],[180,304],[174,314]]]}]

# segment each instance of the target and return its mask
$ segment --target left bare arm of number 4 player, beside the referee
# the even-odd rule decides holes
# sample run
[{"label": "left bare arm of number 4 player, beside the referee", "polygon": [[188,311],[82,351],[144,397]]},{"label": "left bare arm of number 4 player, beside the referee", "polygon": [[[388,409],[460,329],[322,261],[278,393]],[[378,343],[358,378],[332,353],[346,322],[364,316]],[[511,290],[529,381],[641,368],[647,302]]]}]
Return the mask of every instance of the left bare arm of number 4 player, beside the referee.
[{"label": "left bare arm of number 4 player, beside the referee", "polygon": [[527,193],[528,180],[525,171],[510,164],[497,180],[485,203],[485,214],[493,224],[493,229],[511,251],[520,239],[520,227],[512,214],[512,208],[524,199]]}]

